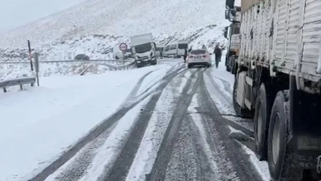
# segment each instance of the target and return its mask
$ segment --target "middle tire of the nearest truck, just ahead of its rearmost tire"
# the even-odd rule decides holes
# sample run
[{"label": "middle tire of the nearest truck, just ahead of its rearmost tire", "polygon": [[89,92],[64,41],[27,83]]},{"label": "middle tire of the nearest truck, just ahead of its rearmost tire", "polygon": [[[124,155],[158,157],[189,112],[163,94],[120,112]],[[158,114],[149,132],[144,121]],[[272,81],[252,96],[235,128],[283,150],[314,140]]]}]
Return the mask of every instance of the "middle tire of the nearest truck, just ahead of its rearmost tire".
[{"label": "middle tire of the nearest truck, just ahead of its rearmost tire", "polygon": [[266,91],[264,83],[261,84],[256,96],[254,113],[254,142],[256,157],[260,160],[267,160],[267,136],[271,113],[271,98],[269,91]]}]

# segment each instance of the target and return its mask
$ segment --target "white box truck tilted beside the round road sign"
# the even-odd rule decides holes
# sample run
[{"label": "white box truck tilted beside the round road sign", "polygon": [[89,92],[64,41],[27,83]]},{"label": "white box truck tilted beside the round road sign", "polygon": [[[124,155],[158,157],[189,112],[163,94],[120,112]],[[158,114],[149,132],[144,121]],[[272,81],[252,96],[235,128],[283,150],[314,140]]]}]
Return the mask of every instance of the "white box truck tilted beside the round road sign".
[{"label": "white box truck tilted beside the round road sign", "polygon": [[132,36],[130,43],[137,68],[157,64],[156,44],[153,42],[152,33]]}]

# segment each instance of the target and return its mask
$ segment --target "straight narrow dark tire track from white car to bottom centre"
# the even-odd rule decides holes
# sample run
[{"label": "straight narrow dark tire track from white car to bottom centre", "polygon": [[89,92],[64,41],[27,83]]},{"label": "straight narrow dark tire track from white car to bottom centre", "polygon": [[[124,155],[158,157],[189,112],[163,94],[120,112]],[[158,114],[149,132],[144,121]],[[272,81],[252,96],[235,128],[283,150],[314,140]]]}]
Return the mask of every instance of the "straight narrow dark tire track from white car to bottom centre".
[{"label": "straight narrow dark tire track from white car to bottom centre", "polygon": [[[200,75],[203,75],[203,72],[206,69],[207,68],[199,69],[199,71],[197,71],[198,77],[196,78],[195,83],[193,84],[192,79],[190,79],[190,81],[187,82],[186,86],[184,87],[182,95],[178,100],[175,112],[172,115],[167,130],[165,132],[160,149],[155,159],[155,163],[152,167],[152,171],[151,173],[146,175],[146,181],[165,180],[166,170],[170,159],[169,155],[172,155],[173,146],[178,137],[178,131],[180,130],[180,126],[184,119],[184,113],[186,113],[187,107],[189,106],[192,97],[200,84]],[[190,89],[192,90],[190,91]]]}]

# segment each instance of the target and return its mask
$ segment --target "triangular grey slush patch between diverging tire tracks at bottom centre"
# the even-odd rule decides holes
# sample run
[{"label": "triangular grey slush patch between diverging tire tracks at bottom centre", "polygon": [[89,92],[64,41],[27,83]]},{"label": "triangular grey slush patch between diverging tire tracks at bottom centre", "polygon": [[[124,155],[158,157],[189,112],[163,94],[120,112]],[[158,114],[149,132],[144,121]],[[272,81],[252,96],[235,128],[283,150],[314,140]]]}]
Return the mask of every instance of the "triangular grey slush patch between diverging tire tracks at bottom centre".
[{"label": "triangular grey slush patch between diverging tire tracks at bottom centre", "polygon": [[174,145],[165,181],[218,180],[210,156],[205,153],[202,136],[192,116],[185,115],[178,139]]}]

